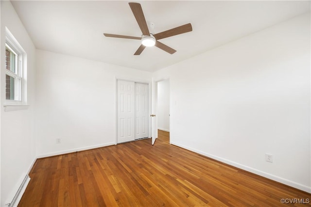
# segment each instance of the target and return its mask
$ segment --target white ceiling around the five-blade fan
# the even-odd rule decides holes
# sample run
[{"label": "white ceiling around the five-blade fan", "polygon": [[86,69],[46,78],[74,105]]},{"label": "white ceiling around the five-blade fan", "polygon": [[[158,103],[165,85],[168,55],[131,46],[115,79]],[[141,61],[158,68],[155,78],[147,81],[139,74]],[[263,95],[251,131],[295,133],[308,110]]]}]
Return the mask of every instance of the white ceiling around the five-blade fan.
[{"label": "white ceiling around the five-blade fan", "polygon": [[110,64],[155,71],[310,11],[310,1],[134,1],[141,4],[155,33],[191,23],[192,32],[160,42],[169,54],[139,40],[103,33],[141,36],[130,1],[12,1],[37,49]]}]

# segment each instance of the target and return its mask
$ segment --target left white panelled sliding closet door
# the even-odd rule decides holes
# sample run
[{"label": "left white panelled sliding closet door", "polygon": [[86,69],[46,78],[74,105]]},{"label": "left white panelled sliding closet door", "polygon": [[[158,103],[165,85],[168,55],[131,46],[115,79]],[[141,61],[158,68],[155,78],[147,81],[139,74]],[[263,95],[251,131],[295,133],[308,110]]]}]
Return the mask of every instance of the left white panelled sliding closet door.
[{"label": "left white panelled sliding closet door", "polygon": [[117,82],[118,143],[124,143],[135,139],[135,83],[123,80]]}]

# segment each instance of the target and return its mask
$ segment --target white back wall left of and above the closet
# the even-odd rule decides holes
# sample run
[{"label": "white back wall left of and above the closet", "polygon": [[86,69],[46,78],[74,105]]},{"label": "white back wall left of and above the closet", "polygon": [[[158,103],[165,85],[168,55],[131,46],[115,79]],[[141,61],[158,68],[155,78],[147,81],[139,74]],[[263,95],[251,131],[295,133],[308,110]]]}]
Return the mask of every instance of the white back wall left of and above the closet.
[{"label": "white back wall left of and above the closet", "polygon": [[151,73],[42,50],[36,56],[36,154],[115,144],[116,80],[150,82]]}]

